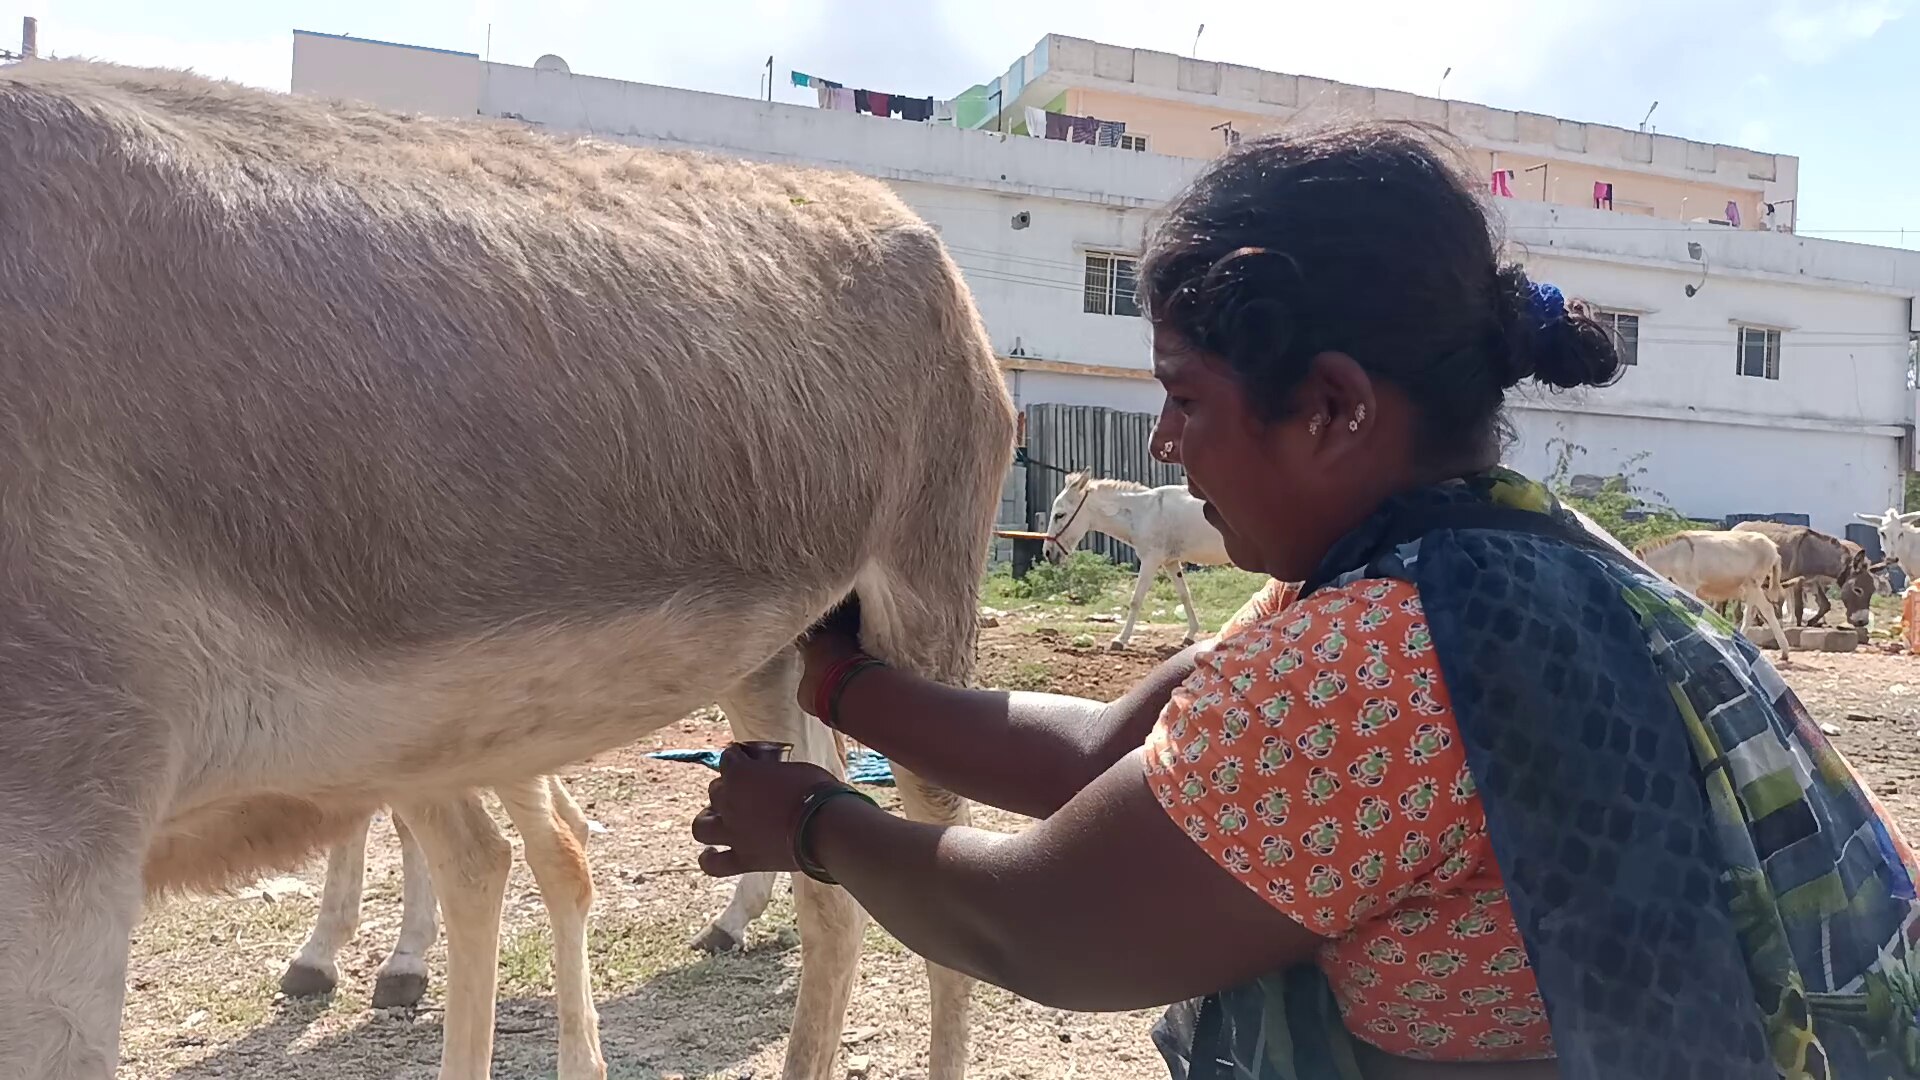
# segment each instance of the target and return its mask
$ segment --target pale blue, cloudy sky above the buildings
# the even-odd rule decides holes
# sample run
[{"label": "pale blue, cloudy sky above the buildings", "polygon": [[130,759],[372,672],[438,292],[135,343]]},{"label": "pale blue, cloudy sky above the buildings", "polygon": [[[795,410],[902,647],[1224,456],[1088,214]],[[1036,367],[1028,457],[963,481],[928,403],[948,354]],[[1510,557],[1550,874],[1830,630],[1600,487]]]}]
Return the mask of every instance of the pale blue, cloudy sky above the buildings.
[{"label": "pale blue, cloudy sky above the buildings", "polygon": [[1421,94],[1452,67],[1450,98],[1620,127],[1659,100],[1659,131],[1799,156],[1803,233],[1920,248],[1920,0],[0,0],[0,38],[21,15],[42,52],[276,88],[294,27],[747,96],[772,54],[795,102],[795,67],[950,96],[1048,31],[1188,52],[1204,21],[1208,60]]}]

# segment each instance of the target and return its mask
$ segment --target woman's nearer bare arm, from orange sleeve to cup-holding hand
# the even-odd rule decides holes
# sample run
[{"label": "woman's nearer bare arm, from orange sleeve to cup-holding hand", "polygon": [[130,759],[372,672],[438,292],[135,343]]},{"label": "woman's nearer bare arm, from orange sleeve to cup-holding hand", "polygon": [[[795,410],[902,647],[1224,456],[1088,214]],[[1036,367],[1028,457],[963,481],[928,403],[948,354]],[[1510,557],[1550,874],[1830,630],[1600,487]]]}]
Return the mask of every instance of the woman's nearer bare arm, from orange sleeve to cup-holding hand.
[{"label": "woman's nearer bare arm, from orange sleeve to cup-holding hand", "polygon": [[[753,786],[743,776],[741,790]],[[714,809],[751,813],[720,796]],[[808,834],[814,859],[908,949],[1058,1009],[1165,1005],[1323,944],[1181,832],[1139,749],[1018,836],[918,824],[851,798],[822,807]],[[716,855],[730,853],[703,865],[726,872]]]}]

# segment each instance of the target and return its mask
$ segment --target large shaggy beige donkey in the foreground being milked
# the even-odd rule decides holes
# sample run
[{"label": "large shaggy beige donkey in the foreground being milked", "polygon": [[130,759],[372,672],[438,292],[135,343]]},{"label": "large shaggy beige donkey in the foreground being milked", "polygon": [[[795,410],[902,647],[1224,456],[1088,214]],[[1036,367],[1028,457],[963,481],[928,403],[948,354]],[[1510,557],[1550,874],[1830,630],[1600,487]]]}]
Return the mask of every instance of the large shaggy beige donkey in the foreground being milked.
[{"label": "large shaggy beige donkey in the foreground being milked", "polygon": [[[109,1078],[142,896],[380,805],[445,920],[440,1074],[488,1076],[474,790],[716,698],[833,767],[793,640],[852,592],[870,650],[964,680],[1012,446],[958,267],[876,181],[0,69],[0,1076]],[[795,884],[820,1080],[864,915]],[[952,1080],[968,982],[931,976]]]}]

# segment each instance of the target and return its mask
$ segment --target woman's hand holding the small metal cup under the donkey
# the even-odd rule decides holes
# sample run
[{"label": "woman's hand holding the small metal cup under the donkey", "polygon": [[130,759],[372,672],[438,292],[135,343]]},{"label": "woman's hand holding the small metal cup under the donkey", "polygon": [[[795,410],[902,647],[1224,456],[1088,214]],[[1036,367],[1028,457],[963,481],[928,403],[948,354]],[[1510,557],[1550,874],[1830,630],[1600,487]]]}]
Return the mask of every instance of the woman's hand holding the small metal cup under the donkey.
[{"label": "woman's hand holding the small metal cup under the donkey", "polygon": [[818,765],[755,761],[728,748],[720,776],[707,786],[707,809],[693,819],[693,840],[708,846],[701,851],[701,871],[714,878],[797,871],[793,830],[801,803],[814,790],[839,784]]}]

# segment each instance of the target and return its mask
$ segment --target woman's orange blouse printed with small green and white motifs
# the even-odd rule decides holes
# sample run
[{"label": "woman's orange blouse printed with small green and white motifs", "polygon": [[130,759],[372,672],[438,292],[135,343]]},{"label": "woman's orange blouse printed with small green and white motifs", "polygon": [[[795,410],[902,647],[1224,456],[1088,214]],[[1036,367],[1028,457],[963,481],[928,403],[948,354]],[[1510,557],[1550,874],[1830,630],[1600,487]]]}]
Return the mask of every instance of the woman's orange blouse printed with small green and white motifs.
[{"label": "woman's orange blouse printed with small green and white motifs", "polygon": [[1146,742],[1187,834],[1327,938],[1346,1026],[1436,1061],[1551,1055],[1417,590],[1269,584]]}]

